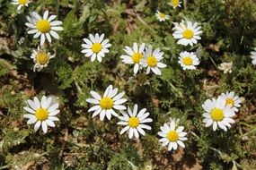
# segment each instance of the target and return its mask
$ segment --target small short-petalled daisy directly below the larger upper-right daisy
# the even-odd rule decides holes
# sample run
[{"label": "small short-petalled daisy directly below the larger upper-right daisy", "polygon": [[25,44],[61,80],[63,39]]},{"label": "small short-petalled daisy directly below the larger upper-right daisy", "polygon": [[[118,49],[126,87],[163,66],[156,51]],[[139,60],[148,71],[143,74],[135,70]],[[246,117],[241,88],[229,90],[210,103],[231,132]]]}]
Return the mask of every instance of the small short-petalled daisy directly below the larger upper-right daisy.
[{"label": "small short-petalled daisy directly below the larger upper-right daisy", "polygon": [[200,62],[195,53],[184,51],[181,52],[178,63],[181,64],[183,70],[195,70]]}]

